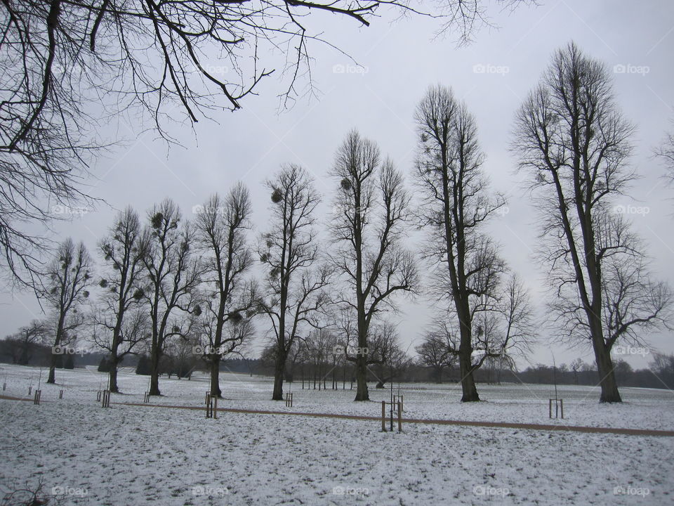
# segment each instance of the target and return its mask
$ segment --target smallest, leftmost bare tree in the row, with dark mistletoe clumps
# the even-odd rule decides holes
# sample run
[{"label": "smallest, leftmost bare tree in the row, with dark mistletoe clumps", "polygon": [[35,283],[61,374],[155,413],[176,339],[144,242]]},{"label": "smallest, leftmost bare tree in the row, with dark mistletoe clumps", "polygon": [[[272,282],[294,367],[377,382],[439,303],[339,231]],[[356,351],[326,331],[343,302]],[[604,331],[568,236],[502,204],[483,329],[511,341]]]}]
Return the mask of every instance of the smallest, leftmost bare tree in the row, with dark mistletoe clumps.
[{"label": "smallest, leftmost bare tree in the row, with dark mistletoe clumps", "polygon": [[47,383],[55,383],[58,354],[75,339],[74,331],[84,323],[81,307],[89,297],[91,258],[83,242],[71,238],[61,243],[44,276],[39,297],[53,311],[55,335]]}]

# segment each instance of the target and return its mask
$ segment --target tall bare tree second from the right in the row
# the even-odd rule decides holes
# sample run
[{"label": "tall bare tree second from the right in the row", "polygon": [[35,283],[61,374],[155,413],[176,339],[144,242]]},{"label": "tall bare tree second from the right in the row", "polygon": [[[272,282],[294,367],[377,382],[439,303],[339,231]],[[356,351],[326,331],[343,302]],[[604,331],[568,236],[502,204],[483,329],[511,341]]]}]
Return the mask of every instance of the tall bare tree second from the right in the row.
[{"label": "tall bare tree second from the right in the row", "polygon": [[449,299],[458,320],[456,346],[461,374],[461,401],[480,401],[473,372],[473,318],[498,299],[505,263],[494,242],[482,232],[484,223],[504,204],[489,194],[484,153],[477,124],[451,89],[432,86],[417,105],[416,182],[423,200],[420,223],[428,231],[425,257],[435,277],[433,291]]}]

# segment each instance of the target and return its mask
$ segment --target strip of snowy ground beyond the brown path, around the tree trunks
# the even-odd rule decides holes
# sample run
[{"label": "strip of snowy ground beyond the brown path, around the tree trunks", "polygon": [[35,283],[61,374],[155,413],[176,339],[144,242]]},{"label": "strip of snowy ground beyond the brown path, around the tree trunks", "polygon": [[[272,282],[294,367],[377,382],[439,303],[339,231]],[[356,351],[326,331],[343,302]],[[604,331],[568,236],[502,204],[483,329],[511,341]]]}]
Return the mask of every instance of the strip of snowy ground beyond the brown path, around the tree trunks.
[{"label": "strip of snowy ground beyond the brown path, around the tree trunks", "polygon": [[[4,378],[7,378],[6,380]],[[42,377],[42,396],[58,399],[58,391],[65,389],[65,402],[93,401],[96,392],[104,389],[107,375],[96,371],[95,367],[77,370],[58,370],[57,385],[46,385]],[[39,380],[39,368],[0,366],[0,382],[6,381],[4,394],[26,396],[29,384],[33,387]],[[330,387],[331,378],[326,380]],[[119,372],[119,389],[123,394],[113,395],[113,402],[143,402],[143,394],[148,389],[147,376],[138,376],[131,369]],[[313,384],[312,384],[313,386]],[[377,416],[381,408],[375,403],[354,403],[355,390],[350,383],[338,383],[338,390],[326,391],[301,388],[301,382],[286,384],[285,390],[292,389],[293,408],[285,408],[284,403],[271,401],[272,380],[268,377],[223,373],[220,387],[223,389],[221,408],[242,408],[252,410],[293,410],[307,413],[341,413],[348,415]],[[561,385],[558,396],[564,399],[564,420],[548,418],[548,398],[554,397],[550,385],[509,384],[501,386],[478,384],[482,403],[461,403],[461,387],[456,384],[402,384],[400,394],[404,395],[404,417],[478,420],[494,422],[518,422],[534,424],[582,425],[588,427],[622,427],[630,429],[674,430],[674,392],[659,389],[622,388],[622,405],[602,405],[598,403],[598,388]],[[208,375],[197,373],[192,380],[159,379],[162,396],[153,397],[152,403],[180,406],[201,406],[209,389]],[[397,384],[395,393],[397,394]],[[377,390],[370,384],[370,398],[381,403],[389,400],[390,390]]]}]

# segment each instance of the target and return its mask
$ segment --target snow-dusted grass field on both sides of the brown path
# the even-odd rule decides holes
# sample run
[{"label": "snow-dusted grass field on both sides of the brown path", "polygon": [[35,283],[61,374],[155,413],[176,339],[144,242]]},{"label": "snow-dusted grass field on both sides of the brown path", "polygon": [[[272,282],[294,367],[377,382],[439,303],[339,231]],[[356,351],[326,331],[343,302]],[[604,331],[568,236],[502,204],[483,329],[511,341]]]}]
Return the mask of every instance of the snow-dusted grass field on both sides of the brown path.
[{"label": "snow-dusted grass field on both sides of the brown path", "polygon": [[[27,396],[39,369],[2,365],[8,396]],[[0,400],[3,493],[43,481],[51,502],[79,505],[669,505],[674,438],[405,424],[283,415],[121,406],[95,402],[105,377],[57,371],[40,406]],[[329,382],[328,382],[329,384]],[[124,394],[142,402],[147,377],[121,372]],[[376,402],[346,390],[302,390],[294,406],[270,401],[269,378],[223,375],[220,406],[375,416]],[[201,406],[206,377],[168,380],[151,403]],[[341,383],[340,383],[341,388]],[[478,385],[487,402],[462,405],[456,386],[402,385],[405,417],[548,424],[549,387]],[[63,399],[58,391],[65,390]],[[598,392],[561,387],[558,424],[674,429],[674,394],[622,389],[626,403],[602,406]],[[381,401],[389,391],[371,389]],[[11,503],[14,504],[14,503]]]}]

